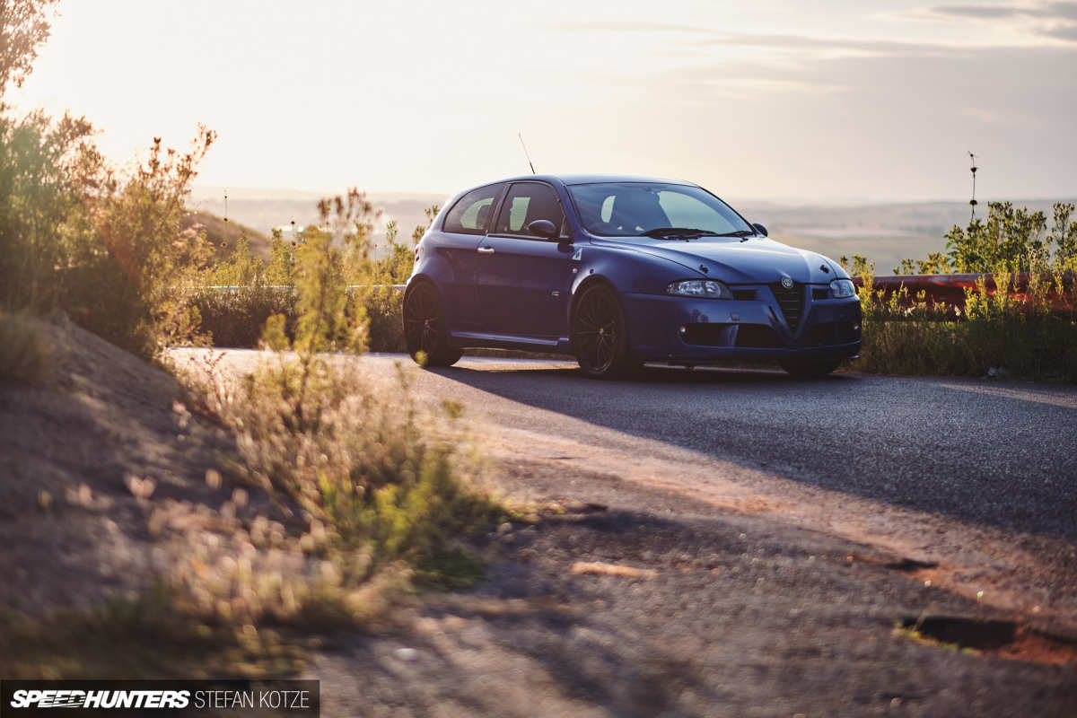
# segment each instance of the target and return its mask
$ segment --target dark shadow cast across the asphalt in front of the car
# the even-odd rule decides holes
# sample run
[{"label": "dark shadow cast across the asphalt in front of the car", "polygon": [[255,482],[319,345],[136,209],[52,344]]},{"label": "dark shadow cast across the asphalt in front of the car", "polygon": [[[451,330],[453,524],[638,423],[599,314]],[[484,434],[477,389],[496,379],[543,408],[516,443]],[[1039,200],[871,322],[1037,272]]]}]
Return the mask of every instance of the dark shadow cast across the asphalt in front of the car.
[{"label": "dark shadow cast across the asphalt in front of the car", "polygon": [[[1077,539],[1077,494],[1072,484],[1066,488],[1077,476],[1072,407],[922,379],[837,374],[797,380],[758,369],[647,369],[638,380],[603,382],[569,367],[505,366],[434,372],[530,407],[801,483]],[[496,403],[481,406],[491,420],[520,428],[540,421]],[[573,435],[578,428],[569,428],[571,422],[556,423],[542,428],[582,438]]]}]

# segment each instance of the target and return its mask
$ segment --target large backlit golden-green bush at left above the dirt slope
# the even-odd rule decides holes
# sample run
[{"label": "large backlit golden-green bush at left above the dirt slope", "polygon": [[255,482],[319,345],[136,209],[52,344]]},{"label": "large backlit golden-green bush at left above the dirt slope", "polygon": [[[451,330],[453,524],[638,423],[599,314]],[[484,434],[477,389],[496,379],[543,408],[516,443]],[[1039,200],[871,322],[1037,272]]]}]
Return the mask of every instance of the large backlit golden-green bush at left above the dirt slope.
[{"label": "large backlit golden-green bush at left above the dirt slope", "polygon": [[92,132],[84,119],[0,115],[0,308],[62,310],[153,356],[198,323],[186,295],[210,252],[183,228],[183,202],[214,135],[200,129],[185,154],[156,140],[121,173]]}]

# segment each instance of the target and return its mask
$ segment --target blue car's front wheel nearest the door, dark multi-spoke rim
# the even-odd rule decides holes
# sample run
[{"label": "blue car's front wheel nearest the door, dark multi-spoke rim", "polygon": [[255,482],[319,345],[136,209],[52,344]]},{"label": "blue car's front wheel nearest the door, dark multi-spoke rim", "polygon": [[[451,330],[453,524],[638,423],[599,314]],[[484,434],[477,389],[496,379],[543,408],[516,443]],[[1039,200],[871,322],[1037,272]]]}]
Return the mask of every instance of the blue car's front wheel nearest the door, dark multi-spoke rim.
[{"label": "blue car's front wheel nearest the door, dark multi-spoke rim", "polygon": [[572,348],[584,375],[619,379],[639,368],[632,362],[625,312],[612,288],[591,284],[572,312]]}]

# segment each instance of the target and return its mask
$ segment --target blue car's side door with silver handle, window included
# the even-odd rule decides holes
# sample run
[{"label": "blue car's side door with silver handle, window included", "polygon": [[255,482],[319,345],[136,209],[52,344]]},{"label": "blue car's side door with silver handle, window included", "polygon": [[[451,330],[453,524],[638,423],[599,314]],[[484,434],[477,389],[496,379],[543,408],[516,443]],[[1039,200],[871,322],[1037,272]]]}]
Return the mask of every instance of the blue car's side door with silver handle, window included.
[{"label": "blue car's side door with silver handle, window included", "polygon": [[[528,231],[535,220],[559,229],[554,239]],[[568,336],[574,249],[560,197],[546,182],[515,182],[478,247],[478,292],[484,330],[553,339]]]}]

